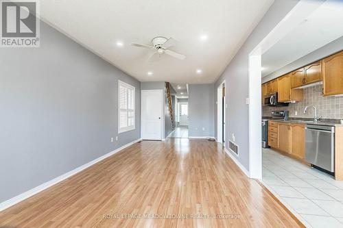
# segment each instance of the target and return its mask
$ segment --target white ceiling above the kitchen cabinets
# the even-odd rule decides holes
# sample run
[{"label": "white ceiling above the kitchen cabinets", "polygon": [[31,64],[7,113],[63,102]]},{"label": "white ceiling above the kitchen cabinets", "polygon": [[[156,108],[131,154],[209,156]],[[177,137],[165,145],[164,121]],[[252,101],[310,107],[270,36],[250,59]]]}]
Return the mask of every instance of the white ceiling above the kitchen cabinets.
[{"label": "white ceiling above the kitchen cabinets", "polygon": [[262,55],[262,77],[343,36],[343,3],[325,1]]}]

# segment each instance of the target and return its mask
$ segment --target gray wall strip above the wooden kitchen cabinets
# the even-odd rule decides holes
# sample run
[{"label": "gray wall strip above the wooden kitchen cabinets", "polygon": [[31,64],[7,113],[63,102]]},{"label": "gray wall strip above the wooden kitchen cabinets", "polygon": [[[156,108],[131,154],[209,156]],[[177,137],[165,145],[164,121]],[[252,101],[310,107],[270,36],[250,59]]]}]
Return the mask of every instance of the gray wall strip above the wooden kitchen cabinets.
[{"label": "gray wall strip above the wooden kitchen cabinets", "polygon": [[[325,58],[329,55],[332,55],[333,53],[336,53],[342,50],[343,50],[343,36],[338,38],[337,40],[333,40],[333,42],[329,42],[329,44],[324,45],[320,49],[317,49],[316,51],[312,51],[311,53],[303,56],[302,58],[290,64],[287,64],[287,66],[280,68],[274,73],[266,75],[265,77],[262,78],[262,82],[270,81],[276,77],[285,75],[291,71],[296,70],[297,68],[306,66],[307,64],[310,64],[311,62],[316,62],[317,60],[320,60],[322,58]],[[263,55],[262,55],[262,58],[263,58]]]}]

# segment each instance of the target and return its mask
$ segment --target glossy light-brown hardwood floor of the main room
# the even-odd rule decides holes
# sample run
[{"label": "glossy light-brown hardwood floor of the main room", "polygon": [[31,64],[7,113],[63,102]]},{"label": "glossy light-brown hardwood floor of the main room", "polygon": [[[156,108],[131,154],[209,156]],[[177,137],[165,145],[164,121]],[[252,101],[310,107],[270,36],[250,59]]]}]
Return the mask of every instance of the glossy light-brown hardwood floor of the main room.
[{"label": "glossy light-brown hardwood floor of the main room", "polygon": [[[299,227],[217,145],[189,139],[134,144],[0,212],[0,227]],[[145,214],[169,218],[115,218]],[[192,214],[204,216],[174,218]]]}]

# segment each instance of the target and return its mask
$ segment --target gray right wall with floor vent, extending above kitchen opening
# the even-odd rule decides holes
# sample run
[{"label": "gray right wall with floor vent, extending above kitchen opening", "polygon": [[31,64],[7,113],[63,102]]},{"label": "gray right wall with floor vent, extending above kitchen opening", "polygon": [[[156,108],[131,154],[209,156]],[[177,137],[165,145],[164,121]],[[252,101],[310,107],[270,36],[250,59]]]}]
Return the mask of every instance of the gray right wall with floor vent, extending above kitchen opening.
[{"label": "gray right wall with floor vent, extending above kitchen opening", "polygon": [[[237,52],[233,60],[226,67],[221,77],[215,83],[215,101],[217,101],[217,87],[226,80],[226,148],[228,140],[239,145],[239,162],[249,170],[248,151],[248,55],[263,38],[276,26],[285,15],[292,10],[298,1],[276,0],[263,16],[259,25],[255,27],[244,45]],[[215,105],[215,136],[217,135],[217,105]]]}]

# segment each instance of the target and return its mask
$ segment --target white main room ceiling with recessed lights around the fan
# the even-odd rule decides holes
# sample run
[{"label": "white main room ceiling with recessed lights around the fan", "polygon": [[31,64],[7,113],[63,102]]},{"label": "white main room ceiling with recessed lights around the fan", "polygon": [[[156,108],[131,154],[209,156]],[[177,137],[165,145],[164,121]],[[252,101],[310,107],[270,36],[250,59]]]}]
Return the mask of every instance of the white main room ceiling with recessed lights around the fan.
[{"label": "white main room ceiling with recessed lights around the fan", "polygon": [[[212,83],[220,76],[273,0],[44,0],[40,16],[139,81]],[[200,36],[206,35],[207,40]],[[155,36],[175,38],[168,55],[147,61]],[[122,47],[117,47],[122,42]],[[202,69],[201,74],[196,70]],[[153,75],[147,75],[152,71]]]}]

